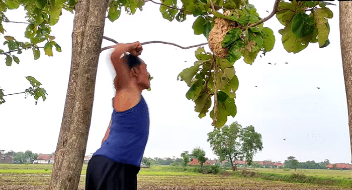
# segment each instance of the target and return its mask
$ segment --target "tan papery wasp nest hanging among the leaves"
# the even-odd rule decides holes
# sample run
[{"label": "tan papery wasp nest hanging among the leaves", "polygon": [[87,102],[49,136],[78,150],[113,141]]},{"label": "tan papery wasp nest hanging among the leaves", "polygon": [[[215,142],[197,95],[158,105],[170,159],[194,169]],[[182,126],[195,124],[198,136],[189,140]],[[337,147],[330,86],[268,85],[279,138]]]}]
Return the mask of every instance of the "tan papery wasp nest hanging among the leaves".
[{"label": "tan papery wasp nest hanging among the leaves", "polygon": [[[225,11],[224,16],[229,16],[232,13],[230,11]],[[213,29],[209,33],[208,42],[210,50],[221,58],[226,58],[228,54],[228,49],[223,48],[221,46],[226,33],[233,28],[238,27],[238,23],[235,21],[223,19],[223,18],[215,18],[215,25]]]}]

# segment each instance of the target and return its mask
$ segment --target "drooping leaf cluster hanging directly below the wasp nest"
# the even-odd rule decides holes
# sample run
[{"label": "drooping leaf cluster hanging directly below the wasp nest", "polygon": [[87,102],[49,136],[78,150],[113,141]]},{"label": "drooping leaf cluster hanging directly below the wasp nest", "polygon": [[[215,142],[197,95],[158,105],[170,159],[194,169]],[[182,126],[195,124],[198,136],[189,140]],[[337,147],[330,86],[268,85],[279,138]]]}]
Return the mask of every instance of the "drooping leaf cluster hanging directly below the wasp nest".
[{"label": "drooping leaf cluster hanging directly below the wasp nest", "polygon": [[[215,94],[214,71],[217,70],[218,89],[218,115],[216,127],[222,127],[227,116],[234,117],[237,113],[235,105],[235,91],[238,88],[238,79],[235,75],[233,63],[226,59],[215,57],[208,53],[204,48],[198,48],[195,52],[197,61],[194,66],[184,69],[178,76],[182,81],[185,81],[190,87],[186,93],[186,98],[193,100],[196,104],[195,111],[199,112],[199,118],[206,116],[206,113],[211,107],[211,97]],[[214,62],[217,67],[214,67]],[[210,117],[214,119],[214,108],[210,112]]]}]

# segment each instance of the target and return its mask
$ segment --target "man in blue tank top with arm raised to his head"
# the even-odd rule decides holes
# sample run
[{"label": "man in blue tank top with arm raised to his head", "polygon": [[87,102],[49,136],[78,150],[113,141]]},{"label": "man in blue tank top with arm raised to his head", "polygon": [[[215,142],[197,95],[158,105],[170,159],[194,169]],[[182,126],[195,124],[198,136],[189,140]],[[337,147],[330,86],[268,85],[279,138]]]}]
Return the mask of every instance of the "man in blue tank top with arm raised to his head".
[{"label": "man in blue tank top with arm raised to his head", "polygon": [[[141,95],[150,87],[139,42],[117,44],[111,54],[116,71],[113,113],[101,148],[87,166],[85,189],[137,189],[137,173],[149,135],[149,112]],[[127,55],[127,52],[130,53]]]}]

